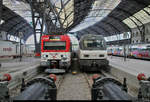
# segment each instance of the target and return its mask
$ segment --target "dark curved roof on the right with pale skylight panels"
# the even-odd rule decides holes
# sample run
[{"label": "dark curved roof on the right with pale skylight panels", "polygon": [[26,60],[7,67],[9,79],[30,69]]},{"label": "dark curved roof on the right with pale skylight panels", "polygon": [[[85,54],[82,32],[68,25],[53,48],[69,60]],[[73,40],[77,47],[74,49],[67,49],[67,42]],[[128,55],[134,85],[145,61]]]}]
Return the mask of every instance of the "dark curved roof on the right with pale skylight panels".
[{"label": "dark curved roof on the right with pale skylight panels", "polygon": [[94,33],[104,36],[130,32],[150,22],[150,0],[121,0],[119,5],[96,24],[78,31],[79,35]]}]

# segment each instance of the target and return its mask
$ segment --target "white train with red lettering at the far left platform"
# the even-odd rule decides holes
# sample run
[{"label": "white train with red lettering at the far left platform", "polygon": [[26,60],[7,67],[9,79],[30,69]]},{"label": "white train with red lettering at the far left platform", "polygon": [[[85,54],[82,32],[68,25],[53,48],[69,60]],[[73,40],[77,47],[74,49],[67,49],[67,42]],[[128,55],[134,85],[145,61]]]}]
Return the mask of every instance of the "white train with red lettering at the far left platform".
[{"label": "white train with red lettering at the far left platform", "polygon": [[[21,56],[34,56],[34,46],[21,44]],[[0,40],[0,59],[20,57],[20,44],[14,41]]]}]

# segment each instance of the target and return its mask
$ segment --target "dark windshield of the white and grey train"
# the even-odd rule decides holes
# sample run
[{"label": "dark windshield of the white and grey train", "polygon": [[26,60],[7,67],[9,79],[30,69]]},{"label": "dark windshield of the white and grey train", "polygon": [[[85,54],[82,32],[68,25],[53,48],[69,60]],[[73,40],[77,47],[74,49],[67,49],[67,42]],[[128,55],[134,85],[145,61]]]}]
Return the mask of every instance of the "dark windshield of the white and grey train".
[{"label": "dark windshield of the white and grey train", "polygon": [[103,39],[86,39],[83,43],[86,50],[106,50]]}]

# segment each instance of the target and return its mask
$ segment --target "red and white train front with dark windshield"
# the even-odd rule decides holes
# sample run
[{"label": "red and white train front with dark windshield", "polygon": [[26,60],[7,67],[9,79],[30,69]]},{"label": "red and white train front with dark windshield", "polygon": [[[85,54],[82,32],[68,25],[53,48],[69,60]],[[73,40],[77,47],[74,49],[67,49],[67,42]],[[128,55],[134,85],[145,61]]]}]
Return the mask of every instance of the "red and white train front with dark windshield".
[{"label": "red and white train front with dark windshield", "polygon": [[41,66],[46,72],[67,72],[71,65],[72,44],[68,35],[43,35],[41,38]]}]

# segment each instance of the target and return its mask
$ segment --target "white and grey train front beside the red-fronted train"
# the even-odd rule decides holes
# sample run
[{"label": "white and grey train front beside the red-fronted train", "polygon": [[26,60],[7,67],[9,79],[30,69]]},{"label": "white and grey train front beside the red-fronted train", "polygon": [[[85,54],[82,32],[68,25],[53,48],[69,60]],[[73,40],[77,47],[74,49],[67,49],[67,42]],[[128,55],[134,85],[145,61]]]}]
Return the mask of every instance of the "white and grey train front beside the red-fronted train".
[{"label": "white and grey train front beside the red-fronted train", "polygon": [[100,71],[108,68],[109,61],[104,37],[94,34],[83,35],[79,41],[78,57],[82,71]]}]

